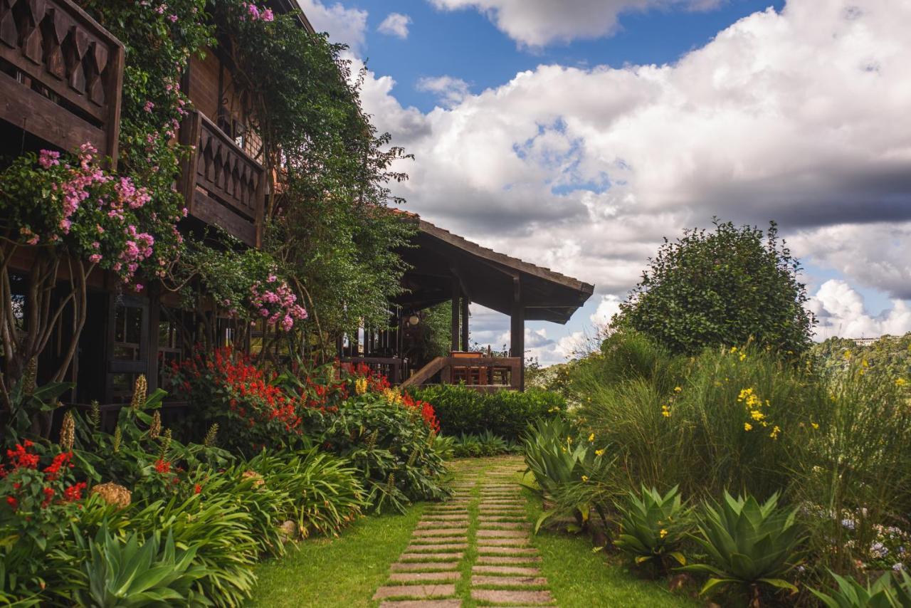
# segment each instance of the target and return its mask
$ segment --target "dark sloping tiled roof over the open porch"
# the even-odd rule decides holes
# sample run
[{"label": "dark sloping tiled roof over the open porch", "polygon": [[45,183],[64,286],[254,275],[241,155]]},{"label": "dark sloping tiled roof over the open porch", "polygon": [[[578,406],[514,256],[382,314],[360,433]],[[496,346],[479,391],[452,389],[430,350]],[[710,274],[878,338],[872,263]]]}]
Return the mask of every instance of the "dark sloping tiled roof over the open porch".
[{"label": "dark sloping tiled roof over the open porch", "polygon": [[[416,309],[452,298],[454,286],[477,304],[510,314],[518,296],[529,321],[565,324],[594,293],[594,285],[537,266],[449,232],[415,213],[394,210],[417,232],[401,254],[411,266],[399,304]],[[517,291],[518,287],[518,291]]]}]

